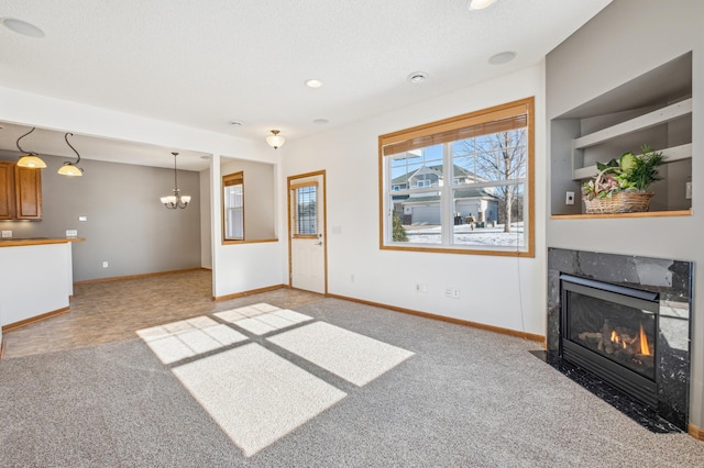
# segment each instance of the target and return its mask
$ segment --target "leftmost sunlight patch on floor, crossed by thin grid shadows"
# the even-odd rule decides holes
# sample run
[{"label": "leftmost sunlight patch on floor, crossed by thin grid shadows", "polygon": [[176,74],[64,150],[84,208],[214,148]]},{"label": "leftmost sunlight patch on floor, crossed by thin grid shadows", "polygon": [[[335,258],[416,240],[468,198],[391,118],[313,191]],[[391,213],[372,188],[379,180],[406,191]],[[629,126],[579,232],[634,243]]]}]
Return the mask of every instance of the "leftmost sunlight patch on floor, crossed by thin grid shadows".
[{"label": "leftmost sunlight patch on floor, crossed by thin grid shadows", "polygon": [[136,334],[164,364],[176,363],[248,339],[242,333],[207,316],[143,328]]}]

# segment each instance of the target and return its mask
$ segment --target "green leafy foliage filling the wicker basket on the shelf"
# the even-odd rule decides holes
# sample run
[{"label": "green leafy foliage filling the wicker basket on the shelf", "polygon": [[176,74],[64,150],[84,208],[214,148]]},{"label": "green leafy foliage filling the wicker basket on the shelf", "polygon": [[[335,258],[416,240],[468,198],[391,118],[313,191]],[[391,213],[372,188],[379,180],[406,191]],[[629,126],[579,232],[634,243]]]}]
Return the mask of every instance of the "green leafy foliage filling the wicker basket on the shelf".
[{"label": "green leafy foliage filling the wicker basket on the shelf", "polygon": [[606,198],[623,190],[645,191],[650,183],[660,180],[658,166],[664,161],[661,152],[654,152],[650,145],[642,145],[642,154],[636,156],[628,152],[620,159],[606,164],[596,163],[598,172],[584,182],[582,196],[587,200]]}]

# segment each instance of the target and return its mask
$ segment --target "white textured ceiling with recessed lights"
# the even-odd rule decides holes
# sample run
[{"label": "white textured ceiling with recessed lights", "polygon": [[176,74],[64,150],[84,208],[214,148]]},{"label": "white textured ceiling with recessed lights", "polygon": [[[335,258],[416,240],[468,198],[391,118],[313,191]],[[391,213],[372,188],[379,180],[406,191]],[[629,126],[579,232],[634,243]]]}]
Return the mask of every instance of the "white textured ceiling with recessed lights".
[{"label": "white textured ceiling with recessed lights", "polygon": [[[0,18],[45,33],[0,26],[0,86],[244,138],[278,129],[294,142],[537,64],[609,2],[498,0],[469,11],[466,0],[0,0]],[[487,63],[505,51],[517,57]],[[419,70],[426,82],[408,82]],[[322,88],[307,88],[309,78]],[[26,130],[0,125],[0,149],[16,151]],[[73,155],[53,133],[21,145]],[[125,161],[129,152],[133,164],[173,164],[173,148],[70,141],[88,159]],[[206,166],[197,153],[179,156],[179,167]]]}]

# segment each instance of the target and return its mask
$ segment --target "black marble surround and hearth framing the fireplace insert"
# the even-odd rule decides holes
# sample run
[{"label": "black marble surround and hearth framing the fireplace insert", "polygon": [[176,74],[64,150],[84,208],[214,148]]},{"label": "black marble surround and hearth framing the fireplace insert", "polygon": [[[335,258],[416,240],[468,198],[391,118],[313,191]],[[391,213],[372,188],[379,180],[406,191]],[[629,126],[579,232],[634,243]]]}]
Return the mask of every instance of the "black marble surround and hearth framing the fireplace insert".
[{"label": "black marble surround and hearth framing the fireplace insert", "polygon": [[[656,432],[688,430],[690,389],[690,321],[692,310],[690,261],[548,249],[548,353],[547,361],[580,382],[641,425]],[[638,399],[619,390],[608,376],[595,376],[579,361],[564,356],[561,345],[563,291],[561,276],[584,278],[653,293],[657,330],[654,382],[651,399]],[[628,370],[625,369],[624,374]],[[648,401],[646,401],[648,400]]]}]

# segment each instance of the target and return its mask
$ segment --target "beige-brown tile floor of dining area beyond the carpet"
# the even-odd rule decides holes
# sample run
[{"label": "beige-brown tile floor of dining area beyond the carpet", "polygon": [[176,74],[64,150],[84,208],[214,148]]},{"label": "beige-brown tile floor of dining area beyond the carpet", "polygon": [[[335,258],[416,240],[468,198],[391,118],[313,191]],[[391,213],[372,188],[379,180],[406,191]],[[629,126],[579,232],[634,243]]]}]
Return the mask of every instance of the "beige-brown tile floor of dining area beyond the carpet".
[{"label": "beige-brown tile floor of dining area beyond the carpet", "polygon": [[76,285],[70,311],[3,332],[4,358],[136,338],[136,331],[266,302],[282,309],[319,301],[312,292],[278,289],[215,302],[211,271]]}]

